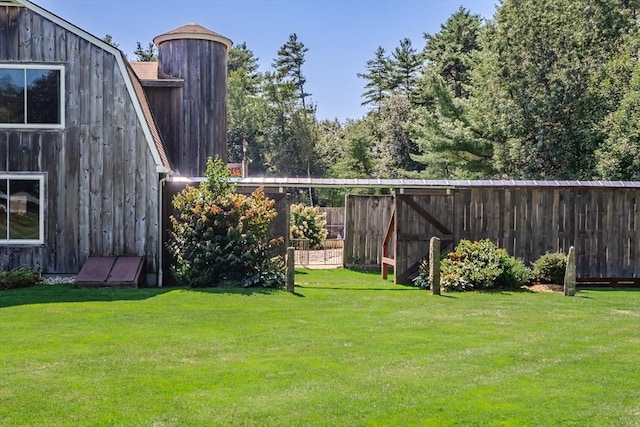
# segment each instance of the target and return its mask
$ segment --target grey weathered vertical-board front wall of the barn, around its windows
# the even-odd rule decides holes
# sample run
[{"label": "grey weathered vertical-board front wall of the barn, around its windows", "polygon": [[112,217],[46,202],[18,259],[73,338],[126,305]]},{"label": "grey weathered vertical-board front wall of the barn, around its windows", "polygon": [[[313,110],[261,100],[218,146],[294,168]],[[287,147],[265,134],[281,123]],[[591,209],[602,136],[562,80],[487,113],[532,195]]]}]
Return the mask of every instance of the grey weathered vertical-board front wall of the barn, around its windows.
[{"label": "grey weathered vertical-board front wall of the barn, around its windows", "polygon": [[0,246],[0,268],[138,255],[157,271],[158,175],[115,58],[26,8],[0,8],[0,31],[0,61],[65,64],[66,85],[64,130],[0,129],[0,171],[45,173],[47,198],[44,246]]}]

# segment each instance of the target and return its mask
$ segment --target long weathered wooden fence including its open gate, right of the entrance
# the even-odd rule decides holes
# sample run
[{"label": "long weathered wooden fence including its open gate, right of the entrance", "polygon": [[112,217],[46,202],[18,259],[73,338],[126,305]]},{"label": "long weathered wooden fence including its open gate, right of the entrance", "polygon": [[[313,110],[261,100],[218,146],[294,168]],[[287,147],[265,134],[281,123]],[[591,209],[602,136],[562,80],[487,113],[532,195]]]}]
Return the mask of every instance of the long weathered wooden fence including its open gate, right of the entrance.
[{"label": "long weathered wooden fence including its open gate, right of the entrance", "polygon": [[461,239],[490,239],[525,263],[574,246],[579,278],[636,278],[639,203],[640,188],[535,185],[349,196],[345,263],[383,265],[386,238],[395,279],[407,283],[439,236],[443,251]]}]

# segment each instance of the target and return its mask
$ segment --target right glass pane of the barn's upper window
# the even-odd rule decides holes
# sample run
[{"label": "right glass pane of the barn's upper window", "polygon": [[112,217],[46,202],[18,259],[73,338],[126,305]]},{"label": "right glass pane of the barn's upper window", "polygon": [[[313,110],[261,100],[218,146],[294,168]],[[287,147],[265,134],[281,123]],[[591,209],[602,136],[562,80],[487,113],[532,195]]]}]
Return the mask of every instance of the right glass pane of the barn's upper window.
[{"label": "right glass pane of the barn's upper window", "polygon": [[60,123],[60,70],[27,70],[27,123]]}]

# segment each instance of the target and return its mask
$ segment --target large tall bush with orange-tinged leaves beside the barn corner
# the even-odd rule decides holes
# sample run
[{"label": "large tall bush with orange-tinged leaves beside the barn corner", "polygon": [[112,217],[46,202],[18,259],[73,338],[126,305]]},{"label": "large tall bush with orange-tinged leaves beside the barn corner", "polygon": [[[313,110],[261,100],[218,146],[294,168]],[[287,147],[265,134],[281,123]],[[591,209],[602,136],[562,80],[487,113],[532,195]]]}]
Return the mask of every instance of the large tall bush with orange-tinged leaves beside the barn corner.
[{"label": "large tall bush with orange-tinged leaves beside the barn corner", "polygon": [[275,202],[262,188],[237,194],[218,157],[207,161],[205,176],[206,182],[173,198],[179,215],[171,217],[168,249],[176,278],[192,287],[283,286],[284,264],[271,259],[283,239],[269,240]]}]

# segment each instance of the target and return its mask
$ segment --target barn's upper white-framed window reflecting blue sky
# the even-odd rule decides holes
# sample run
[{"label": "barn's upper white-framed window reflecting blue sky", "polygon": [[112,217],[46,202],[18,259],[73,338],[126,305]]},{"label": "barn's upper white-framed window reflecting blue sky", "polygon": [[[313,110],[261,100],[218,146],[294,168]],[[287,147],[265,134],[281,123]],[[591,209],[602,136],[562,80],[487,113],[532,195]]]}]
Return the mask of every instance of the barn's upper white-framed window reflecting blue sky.
[{"label": "barn's upper white-framed window reflecting blue sky", "polygon": [[63,127],[64,68],[0,64],[0,127]]}]

